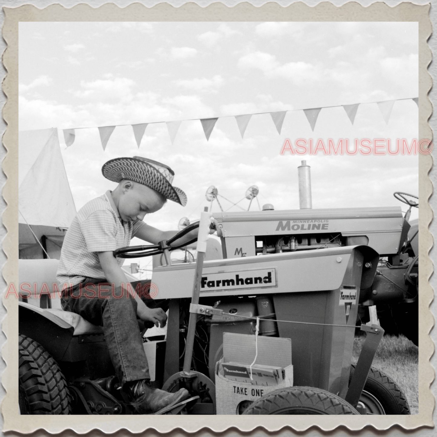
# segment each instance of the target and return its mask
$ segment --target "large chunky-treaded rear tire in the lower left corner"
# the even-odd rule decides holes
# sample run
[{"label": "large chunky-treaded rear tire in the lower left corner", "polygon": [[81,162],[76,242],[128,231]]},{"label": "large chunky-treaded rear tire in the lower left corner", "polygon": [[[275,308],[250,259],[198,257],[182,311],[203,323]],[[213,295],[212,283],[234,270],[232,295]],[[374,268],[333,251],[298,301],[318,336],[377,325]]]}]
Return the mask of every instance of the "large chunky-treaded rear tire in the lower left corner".
[{"label": "large chunky-treaded rear tire in the lower left corner", "polygon": [[39,343],[18,340],[20,414],[70,414],[70,395],[56,361]]}]

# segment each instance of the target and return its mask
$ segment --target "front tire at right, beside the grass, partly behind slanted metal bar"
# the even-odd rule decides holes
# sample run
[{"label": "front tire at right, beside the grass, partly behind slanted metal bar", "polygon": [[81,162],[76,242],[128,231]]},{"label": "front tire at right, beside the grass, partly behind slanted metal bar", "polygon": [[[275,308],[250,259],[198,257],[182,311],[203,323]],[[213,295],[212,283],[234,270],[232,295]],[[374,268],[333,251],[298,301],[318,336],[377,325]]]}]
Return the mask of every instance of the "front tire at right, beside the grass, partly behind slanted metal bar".
[{"label": "front tire at right, beside the grass, partly behind slanted metal bar", "polygon": [[[350,365],[349,383],[355,371]],[[384,372],[370,368],[360,401],[371,414],[410,414],[408,402],[398,385]]]}]

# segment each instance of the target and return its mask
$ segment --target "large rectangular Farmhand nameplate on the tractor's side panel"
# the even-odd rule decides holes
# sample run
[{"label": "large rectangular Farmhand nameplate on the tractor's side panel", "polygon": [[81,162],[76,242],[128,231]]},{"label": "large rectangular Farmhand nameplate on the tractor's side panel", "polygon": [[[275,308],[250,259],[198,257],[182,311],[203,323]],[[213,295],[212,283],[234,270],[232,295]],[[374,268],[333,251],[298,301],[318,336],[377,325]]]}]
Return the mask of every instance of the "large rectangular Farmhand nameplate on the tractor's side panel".
[{"label": "large rectangular Farmhand nameplate on the tractor's side panel", "polygon": [[276,285],[275,269],[202,274],[200,291],[266,288]]}]

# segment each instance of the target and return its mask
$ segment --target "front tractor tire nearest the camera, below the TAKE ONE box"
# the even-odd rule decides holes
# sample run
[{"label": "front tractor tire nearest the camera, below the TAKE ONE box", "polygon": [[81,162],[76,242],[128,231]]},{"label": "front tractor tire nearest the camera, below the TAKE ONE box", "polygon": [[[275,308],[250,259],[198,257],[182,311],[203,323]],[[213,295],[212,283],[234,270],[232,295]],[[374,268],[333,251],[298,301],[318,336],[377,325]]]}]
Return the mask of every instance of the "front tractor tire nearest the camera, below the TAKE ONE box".
[{"label": "front tractor tire nearest the camera, below the TAKE ONE box", "polygon": [[333,393],[314,387],[274,390],[253,402],[243,414],[360,414]]}]

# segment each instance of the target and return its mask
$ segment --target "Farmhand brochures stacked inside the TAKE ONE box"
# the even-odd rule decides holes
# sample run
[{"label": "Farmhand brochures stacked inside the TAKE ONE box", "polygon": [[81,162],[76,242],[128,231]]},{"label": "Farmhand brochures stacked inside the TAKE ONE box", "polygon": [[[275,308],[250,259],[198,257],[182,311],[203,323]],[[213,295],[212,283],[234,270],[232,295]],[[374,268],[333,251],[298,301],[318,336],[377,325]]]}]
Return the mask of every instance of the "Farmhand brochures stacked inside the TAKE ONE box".
[{"label": "Farmhand brochures stacked inside the TAKE ONE box", "polygon": [[231,381],[248,382],[252,385],[277,385],[285,377],[284,369],[274,366],[252,366],[252,379],[250,379],[250,366],[236,363],[223,363],[223,376]]}]

